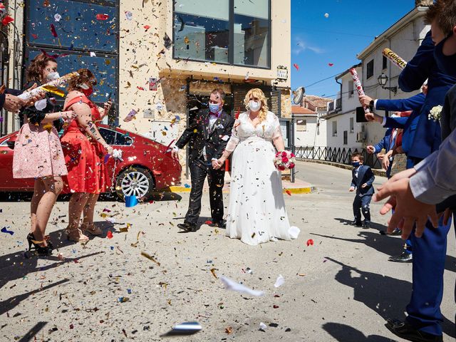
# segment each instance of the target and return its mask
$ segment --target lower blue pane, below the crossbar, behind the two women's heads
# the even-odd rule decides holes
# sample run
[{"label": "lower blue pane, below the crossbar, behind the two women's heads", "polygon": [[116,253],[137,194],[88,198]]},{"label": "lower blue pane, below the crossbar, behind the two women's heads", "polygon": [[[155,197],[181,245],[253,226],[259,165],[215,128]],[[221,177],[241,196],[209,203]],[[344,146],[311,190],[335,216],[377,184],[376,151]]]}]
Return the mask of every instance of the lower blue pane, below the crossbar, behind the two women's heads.
[{"label": "lower blue pane, below the crossbar, behind the two women's heads", "polygon": [[[48,54],[68,53],[69,51],[46,51]],[[36,55],[41,53],[36,48],[26,49],[26,66]],[[66,57],[58,57],[58,73],[63,76],[71,71],[77,71],[80,68],[88,68],[93,72],[97,79],[97,85],[93,88],[93,94],[90,96],[91,100],[96,103],[104,103],[108,95],[115,100],[117,98],[117,56],[102,56],[90,57],[88,55],[81,55],[78,53],[71,53]]]}]

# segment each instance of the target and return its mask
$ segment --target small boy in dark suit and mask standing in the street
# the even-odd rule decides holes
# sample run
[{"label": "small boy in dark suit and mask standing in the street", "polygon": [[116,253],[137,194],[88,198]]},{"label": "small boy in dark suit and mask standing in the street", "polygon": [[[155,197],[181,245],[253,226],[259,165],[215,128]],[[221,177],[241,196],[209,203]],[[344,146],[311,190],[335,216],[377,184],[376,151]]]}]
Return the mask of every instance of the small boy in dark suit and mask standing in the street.
[{"label": "small boy in dark suit and mask standing in the street", "polygon": [[[375,176],[371,167],[363,165],[364,157],[361,153],[353,153],[351,156],[351,164],[353,165],[352,180],[350,192],[355,191],[356,196],[353,200],[353,215],[355,220],[352,222],[356,227],[371,227],[371,211],[369,204],[373,195],[373,181]],[[361,211],[363,212],[364,222],[361,223]]]}]

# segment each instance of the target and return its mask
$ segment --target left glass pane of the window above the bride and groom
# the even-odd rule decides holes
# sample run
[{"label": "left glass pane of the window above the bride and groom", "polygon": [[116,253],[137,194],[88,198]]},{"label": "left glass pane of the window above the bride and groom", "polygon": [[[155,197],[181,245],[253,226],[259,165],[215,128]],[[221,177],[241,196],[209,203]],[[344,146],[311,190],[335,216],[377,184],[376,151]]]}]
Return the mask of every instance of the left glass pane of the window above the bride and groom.
[{"label": "left glass pane of the window above the bride and groom", "polygon": [[229,63],[229,0],[177,0],[174,57]]}]

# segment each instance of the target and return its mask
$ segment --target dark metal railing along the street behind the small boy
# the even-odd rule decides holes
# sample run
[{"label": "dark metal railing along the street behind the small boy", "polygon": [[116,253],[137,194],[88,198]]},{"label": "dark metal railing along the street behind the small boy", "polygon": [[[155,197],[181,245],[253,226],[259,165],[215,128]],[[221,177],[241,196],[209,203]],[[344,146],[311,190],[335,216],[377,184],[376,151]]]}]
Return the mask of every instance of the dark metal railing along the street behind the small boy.
[{"label": "dark metal railing along the street behind the small boy", "polygon": [[364,157],[364,165],[373,169],[381,169],[380,160],[375,155],[371,155],[365,148],[346,148],[346,147],[324,147],[324,146],[295,146],[294,154],[296,158],[324,160],[326,162],[338,162],[350,165],[351,155],[360,152]]}]

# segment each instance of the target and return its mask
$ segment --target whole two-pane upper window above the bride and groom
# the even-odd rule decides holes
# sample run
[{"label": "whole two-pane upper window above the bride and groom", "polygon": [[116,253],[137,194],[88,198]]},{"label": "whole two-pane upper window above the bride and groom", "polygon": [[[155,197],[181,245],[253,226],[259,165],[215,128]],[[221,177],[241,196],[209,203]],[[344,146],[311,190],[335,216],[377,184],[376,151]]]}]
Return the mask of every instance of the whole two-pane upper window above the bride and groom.
[{"label": "whole two-pane upper window above the bride and groom", "polygon": [[270,68],[271,0],[174,4],[174,58]]}]

